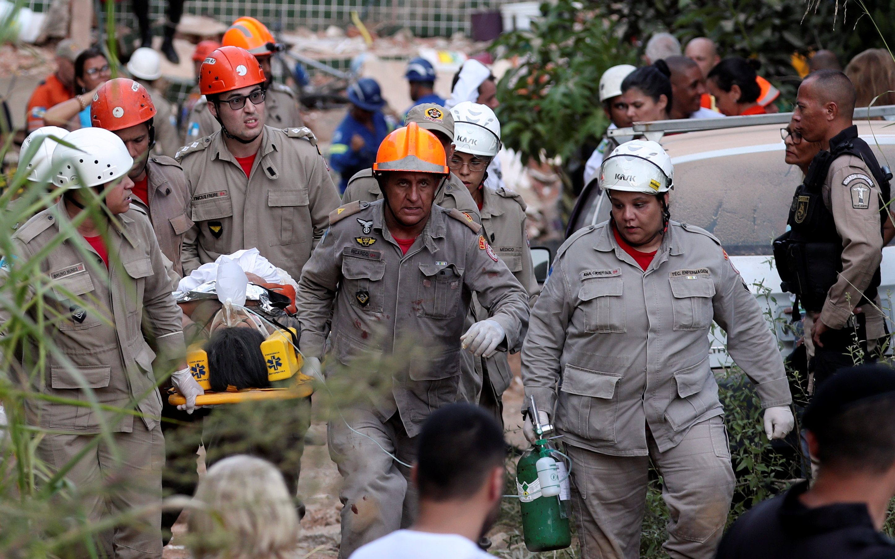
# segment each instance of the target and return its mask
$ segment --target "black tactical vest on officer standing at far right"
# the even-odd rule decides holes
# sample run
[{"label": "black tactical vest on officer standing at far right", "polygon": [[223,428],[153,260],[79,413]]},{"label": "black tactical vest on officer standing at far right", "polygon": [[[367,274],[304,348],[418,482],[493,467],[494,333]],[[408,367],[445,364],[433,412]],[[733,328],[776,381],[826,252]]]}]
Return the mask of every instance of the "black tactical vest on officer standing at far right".
[{"label": "black tactical vest on officer standing at far right", "polygon": [[[805,310],[820,312],[827,292],[836,284],[842,271],[842,238],[836,231],[833,215],[823,203],[823,182],[830,165],[838,157],[860,157],[882,191],[882,199],[890,196],[888,168],[881,167],[874,152],[864,140],[857,137],[857,126],[850,126],[830,140],[830,151],[821,151],[808,167],[805,181],[798,185],[789,207],[787,224],[790,230],[774,240],[774,259],[783,283],[784,292],[798,296]],[[869,196],[871,192],[867,192]],[[880,204],[880,225],[888,218],[888,208]],[[864,292],[862,302],[876,298],[880,285],[880,268]],[[855,306],[858,303],[856,301]],[[794,313],[795,314],[795,313]]]}]

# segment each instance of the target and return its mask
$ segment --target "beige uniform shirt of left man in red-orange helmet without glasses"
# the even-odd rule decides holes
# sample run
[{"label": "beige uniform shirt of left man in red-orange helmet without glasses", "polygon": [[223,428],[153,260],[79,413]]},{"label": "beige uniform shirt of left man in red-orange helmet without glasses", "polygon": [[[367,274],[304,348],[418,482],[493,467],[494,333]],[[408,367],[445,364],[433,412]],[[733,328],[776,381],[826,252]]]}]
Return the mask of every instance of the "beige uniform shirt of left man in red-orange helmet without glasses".
[{"label": "beige uniform shirt of left man in red-orange helmet without glasses", "polygon": [[171,157],[149,156],[146,174],[149,206],[136,196],[131,204],[149,216],[162,254],[171,261],[175,273],[183,276],[181,244],[183,234],[192,227],[190,194],[183,168]]}]

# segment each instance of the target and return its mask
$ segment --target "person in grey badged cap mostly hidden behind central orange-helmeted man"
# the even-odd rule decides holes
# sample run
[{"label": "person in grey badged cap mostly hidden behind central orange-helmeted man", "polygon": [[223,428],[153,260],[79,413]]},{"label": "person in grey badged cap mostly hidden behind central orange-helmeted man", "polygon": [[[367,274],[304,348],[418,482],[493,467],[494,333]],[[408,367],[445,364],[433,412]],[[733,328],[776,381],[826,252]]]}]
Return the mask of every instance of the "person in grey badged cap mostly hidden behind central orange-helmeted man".
[{"label": "person in grey badged cap mostly hidden behind central orange-helmeted man", "polygon": [[[441,145],[445,148],[448,165],[450,158],[454,155],[454,117],[444,106],[435,105],[433,103],[425,103],[413,106],[407,113],[406,123],[416,123],[423,130],[428,130],[435,134]],[[342,203],[348,204],[355,200],[366,200],[375,202],[382,198],[382,192],[379,191],[379,182],[373,176],[373,169],[364,169],[358,171],[348,181],[345,193],[342,194]],[[441,208],[456,208],[461,212],[465,212],[473,221],[481,223],[479,216],[479,207],[476,205],[473,197],[456,174],[451,173],[447,177],[447,181],[439,183],[439,190],[435,192],[434,204],[438,204]]]}]

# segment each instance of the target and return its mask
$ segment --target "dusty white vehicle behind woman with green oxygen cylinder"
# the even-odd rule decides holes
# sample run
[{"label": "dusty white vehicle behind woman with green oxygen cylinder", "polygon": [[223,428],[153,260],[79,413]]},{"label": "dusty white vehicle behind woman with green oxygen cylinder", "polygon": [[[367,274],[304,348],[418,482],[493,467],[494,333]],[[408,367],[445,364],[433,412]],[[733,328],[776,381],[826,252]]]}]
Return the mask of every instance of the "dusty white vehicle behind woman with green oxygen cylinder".
[{"label": "dusty white vehicle behind woman with green oxygen cylinder", "polygon": [[[887,110],[890,108],[891,111]],[[895,113],[895,106],[877,107],[872,111],[871,114]],[[750,120],[778,122],[749,125]],[[673,125],[682,122],[663,121],[647,123],[645,135],[660,138],[675,167],[675,188],[670,199],[672,219],[698,225],[720,239],[746,285],[768,310],[769,318],[775,318],[775,330],[784,354],[788,354],[796,341],[792,327],[787,326],[790,315],[785,312],[792,303],[789,293],[780,291],[780,276],[771,256],[771,241],[786,231],[789,205],[797,185],[802,182],[798,167],[783,160],[785,148],[780,140],[780,128],[786,126],[788,117],[785,114],[741,116],[712,119],[712,124],[722,125],[724,121],[729,124],[736,121],[737,125],[672,134]],[[672,123],[667,125],[671,130],[663,133],[663,123]],[[887,128],[892,123],[857,118],[856,123],[858,134],[874,148],[880,165],[895,168],[895,126]],[[712,124],[697,122],[695,126]],[[639,128],[643,129],[644,125]],[[650,131],[651,128],[659,129],[658,133]],[[895,187],[895,181],[892,182]],[[575,205],[567,234],[608,218],[609,203],[597,181],[593,181],[584,188]],[[882,250],[879,292],[891,332],[895,317],[891,301],[895,295],[895,246]],[[724,332],[713,326],[712,367],[732,365]]]}]

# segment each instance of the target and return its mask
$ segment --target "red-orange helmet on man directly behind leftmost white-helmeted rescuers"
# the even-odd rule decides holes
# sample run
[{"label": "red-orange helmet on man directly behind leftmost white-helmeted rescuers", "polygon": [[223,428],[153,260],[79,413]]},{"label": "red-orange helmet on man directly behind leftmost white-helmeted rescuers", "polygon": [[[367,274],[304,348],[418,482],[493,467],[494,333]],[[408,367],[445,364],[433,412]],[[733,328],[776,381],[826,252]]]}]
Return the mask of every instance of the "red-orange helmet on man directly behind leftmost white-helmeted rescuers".
[{"label": "red-orange helmet on man directly behind leftmost white-helmeted rescuers", "polygon": [[90,104],[90,124],[106,130],[122,130],[145,123],[156,115],[149,91],[127,78],[108,80]]}]

